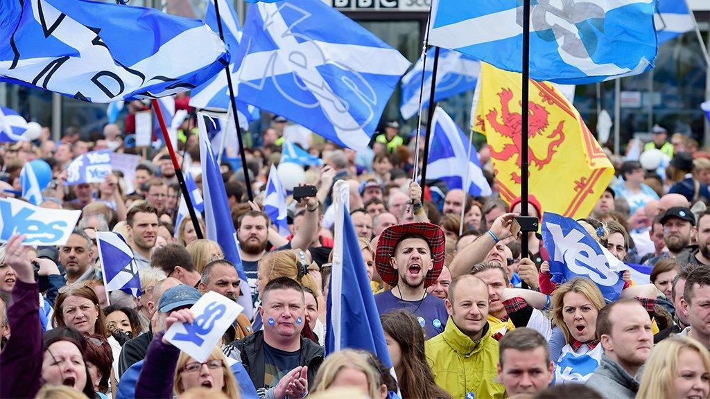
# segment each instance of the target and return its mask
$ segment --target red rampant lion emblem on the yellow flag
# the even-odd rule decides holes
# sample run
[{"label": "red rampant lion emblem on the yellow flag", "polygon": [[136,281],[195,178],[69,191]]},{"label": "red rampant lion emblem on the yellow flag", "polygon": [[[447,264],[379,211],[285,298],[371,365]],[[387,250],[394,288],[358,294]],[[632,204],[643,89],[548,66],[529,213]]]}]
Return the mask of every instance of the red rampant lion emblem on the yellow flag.
[{"label": "red rampant lion emblem on the yellow flag", "polygon": [[[518,168],[520,168],[520,133],[523,130],[522,116],[520,113],[510,112],[508,104],[510,103],[510,100],[513,99],[513,92],[510,89],[502,89],[501,92],[498,93],[498,97],[501,99],[501,121],[498,121],[498,110],[496,109],[488,111],[488,114],[486,114],[486,121],[488,121],[491,128],[501,136],[510,138],[511,143],[507,143],[503,146],[501,151],[495,151],[493,148],[489,147],[491,157],[502,161],[515,157],[515,164],[518,165]],[[521,102],[518,102],[518,104],[520,103]],[[528,130],[528,138],[535,138],[540,135],[544,136],[544,132],[549,126],[548,117],[550,116],[550,112],[548,112],[544,106],[536,104],[532,101],[530,102],[529,110],[530,116],[528,116],[528,126],[530,127]],[[481,126],[481,128],[485,131],[484,121],[481,120],[481,116],[479,116],[478,119],[479,121],[476,125]],[[546,136],[546,138],[551,141],[547,145],[547,154],[545,154],[544,157],[537,157],[537,155],[535,155],[532,151],[532,148],[528,148],[528,159],[530,160],[530,165],[535,165],[537,166],[537,170],[541,170],[545,165],[550,163],[552,155],[555,155],[555,152],[557,152],[557,147],[559,147],[559,144],[564,141],[564,133],[562,132],[563,127],[564,121],[560,121],[559,124],[557,124],[557,128],[552,131],[550,135]],[[514,182],[520,184],[520,175],[517,172],[511,173],[510,177],[512,177]]]}]

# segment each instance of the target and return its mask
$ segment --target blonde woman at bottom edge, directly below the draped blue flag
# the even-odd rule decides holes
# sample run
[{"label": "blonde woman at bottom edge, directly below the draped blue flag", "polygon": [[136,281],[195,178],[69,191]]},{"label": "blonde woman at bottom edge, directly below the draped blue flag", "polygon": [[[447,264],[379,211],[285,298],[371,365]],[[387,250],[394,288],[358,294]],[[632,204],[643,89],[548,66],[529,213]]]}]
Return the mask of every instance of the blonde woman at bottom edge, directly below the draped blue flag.
[{"label": "blonde woman at bottom edge, directly below the draped blue flag", "polygon": [[325,358],[318,368],[311,393],[337,387],[358,388],[368,398],[387,398],[387,386],[381,383],[366,355],[352,349],[337,351]]}]

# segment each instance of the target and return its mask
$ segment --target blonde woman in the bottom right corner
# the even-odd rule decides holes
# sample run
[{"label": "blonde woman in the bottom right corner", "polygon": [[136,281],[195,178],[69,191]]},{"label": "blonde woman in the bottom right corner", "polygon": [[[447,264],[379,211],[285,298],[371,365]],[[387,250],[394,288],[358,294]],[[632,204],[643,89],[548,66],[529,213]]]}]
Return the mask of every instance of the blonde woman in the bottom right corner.
[{"label": "blonde woman in the bottom right corner", "polygon": [[646,361],[637,399],[710,398],[710,354],[700,342],[674,336],[655,346]]}]

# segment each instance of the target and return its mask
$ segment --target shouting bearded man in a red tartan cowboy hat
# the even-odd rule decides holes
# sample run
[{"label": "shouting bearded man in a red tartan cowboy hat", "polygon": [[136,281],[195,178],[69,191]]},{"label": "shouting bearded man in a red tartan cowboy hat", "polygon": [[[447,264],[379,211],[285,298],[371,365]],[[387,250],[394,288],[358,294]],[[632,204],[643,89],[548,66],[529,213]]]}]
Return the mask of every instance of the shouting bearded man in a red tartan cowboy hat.
[{"label": "shouting bearded man in a red tartan cowboy hat", "polygon": [[435,224],[398,224],[382,232],[375,255],[377,272],[393,287],[375,295],[378,312],[408,310],[427,339],[442,333],[449,318],[444,301],[427,295],[444,267],[444,242],[444,231]]}]

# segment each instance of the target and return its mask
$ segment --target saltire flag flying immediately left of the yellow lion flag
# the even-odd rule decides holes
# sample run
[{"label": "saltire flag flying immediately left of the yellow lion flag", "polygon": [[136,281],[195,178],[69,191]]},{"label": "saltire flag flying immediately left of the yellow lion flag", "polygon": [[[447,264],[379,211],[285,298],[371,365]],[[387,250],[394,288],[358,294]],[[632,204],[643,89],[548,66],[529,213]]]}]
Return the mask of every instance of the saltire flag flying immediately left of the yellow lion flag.
[{"label": "saltire flag flying immediately left of the yellow lion flag", "polygon": [[[439,106],[432,118],[430,140],[427,178],[442,180],[449,190],[459,188],[476,197],[493,193],[481,170],[479,152],[471,148],[469,158],[469,137]],[[464,165],[468,165],[468,171]]]}]

